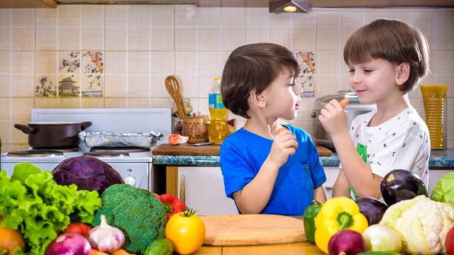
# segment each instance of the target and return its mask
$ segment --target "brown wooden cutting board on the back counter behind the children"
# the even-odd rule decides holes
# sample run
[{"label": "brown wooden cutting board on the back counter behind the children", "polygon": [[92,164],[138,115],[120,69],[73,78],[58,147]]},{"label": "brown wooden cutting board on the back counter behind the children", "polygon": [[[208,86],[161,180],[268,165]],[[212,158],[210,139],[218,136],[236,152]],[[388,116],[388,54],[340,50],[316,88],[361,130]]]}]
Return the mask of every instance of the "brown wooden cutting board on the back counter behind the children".
[{"label": "brown wooden cutting board on the back counter behind the children", "polygon": [[[159,145],[153,149],[153,155],[179,155],[179,156],[219,156],[221,145],[194,146],[193,144]],[[331,157],[331,150],[316,145],[320,157]]]}]

